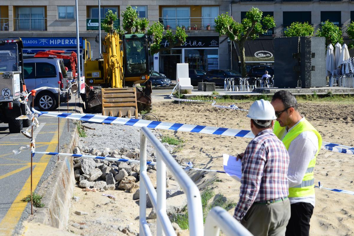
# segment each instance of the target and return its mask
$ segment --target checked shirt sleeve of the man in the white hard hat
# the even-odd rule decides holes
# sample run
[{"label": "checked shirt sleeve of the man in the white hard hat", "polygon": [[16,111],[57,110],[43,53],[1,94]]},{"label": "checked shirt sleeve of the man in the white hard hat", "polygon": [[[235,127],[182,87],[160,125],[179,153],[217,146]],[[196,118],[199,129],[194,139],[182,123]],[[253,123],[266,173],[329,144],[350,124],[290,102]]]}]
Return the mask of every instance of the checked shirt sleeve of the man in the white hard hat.
[{"label": "checked shirt sleeve of the man in the white hard hat", "polygon": [[264,147],[252,140],[245,150],[242,159],[242,177],[240,186],[240,200],[235,208],[234,218],[241,221],[255,202],[265,165],[266,155]]}]

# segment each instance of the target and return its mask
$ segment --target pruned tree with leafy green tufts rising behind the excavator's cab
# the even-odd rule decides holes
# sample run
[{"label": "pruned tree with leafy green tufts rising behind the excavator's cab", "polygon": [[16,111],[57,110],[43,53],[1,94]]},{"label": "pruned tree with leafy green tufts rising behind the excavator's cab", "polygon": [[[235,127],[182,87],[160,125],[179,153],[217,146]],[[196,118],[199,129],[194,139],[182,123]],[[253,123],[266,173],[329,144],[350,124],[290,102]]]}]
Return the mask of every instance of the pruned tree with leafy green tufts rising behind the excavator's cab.
[{"label": "pruned tree with leafy green tufts rising behind the excavator's cab", "polygon": [[[145,33],[146,31],[148,35],[154,36],[154,42],[151,45],[152,54],[169,50],[175,46],[181,46],[188,37],[185,30],[178,26],[175,33],[173,33],[170,29],[165,31],[164,25],[160,22],[154,22],[149,27],[149,20],[147,18],[139,18],[136,10],[129,5],[127,6],[127,9],[123,11],[122,17],[123,31],[121,33],[126,32],[127,34],[138,34]],[[161,47],[162,39],[167,40],[166,47]]]}]

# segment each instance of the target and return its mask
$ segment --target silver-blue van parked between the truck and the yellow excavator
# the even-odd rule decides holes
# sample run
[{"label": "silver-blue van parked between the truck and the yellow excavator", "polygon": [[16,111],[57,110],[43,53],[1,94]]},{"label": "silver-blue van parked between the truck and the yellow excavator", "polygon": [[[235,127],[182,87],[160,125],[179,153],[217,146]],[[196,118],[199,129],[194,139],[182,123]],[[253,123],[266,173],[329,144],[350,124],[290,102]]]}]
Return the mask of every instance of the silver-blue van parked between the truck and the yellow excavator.
[{"label": "silver-blue van parked between the truck and the yellow excavator", "polygon": [[[26,58],[23,64],[24,81],[28,90],[37,90],[34,103],[41,111],[58,107],[58,81],[61,91],[66,87],[66,70],[63,59]],[[64,82],[65,81],[65,82]],[[71,96],[69,95],[69,100]],[[67,102],[67,93],[60,94],[60,102]]]}]

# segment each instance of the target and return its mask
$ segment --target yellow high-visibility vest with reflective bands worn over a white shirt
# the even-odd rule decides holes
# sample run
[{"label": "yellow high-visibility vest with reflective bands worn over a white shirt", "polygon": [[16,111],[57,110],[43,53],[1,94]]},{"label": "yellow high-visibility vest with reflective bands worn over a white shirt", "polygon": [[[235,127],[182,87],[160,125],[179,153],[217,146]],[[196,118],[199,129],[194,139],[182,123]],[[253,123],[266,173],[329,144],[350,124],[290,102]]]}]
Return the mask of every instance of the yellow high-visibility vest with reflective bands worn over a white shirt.
[{"label": "yellow high-visibility vest with reflective bands worn over a white shirt", "polygon": [[[315,167],[316,163],[316,156],[318,152],[320,151],[321,145],[322,145],[322,137],[317,132],[317,130],[306,120],[304,119],[303,121],[299,122],[296,126],[294,126],[286,135],[283,139],[282,136],[284,135],[285,132],[285,127],[281,127],[279,125],[279,122],[276,121],[274,123],[274,134],[276,137],[278,137],[280,140],[285,145],[286,150],[289,150],[290,143],[292,140],[294,140],[299,134],[301,134],[304,131],[312,131],[316,134],[318,138],[318,150],[316,152],[315,158],[313,158],[306,170],[306,173],[302,179],[301,184],[296,185],[292,188],[289,188],[289,197],[306,197],[310,195],[315,194],[315,183],[314,183],[314,176],[313,176],[313,169]],[[296,158],[296,157],[295,157]]]}]

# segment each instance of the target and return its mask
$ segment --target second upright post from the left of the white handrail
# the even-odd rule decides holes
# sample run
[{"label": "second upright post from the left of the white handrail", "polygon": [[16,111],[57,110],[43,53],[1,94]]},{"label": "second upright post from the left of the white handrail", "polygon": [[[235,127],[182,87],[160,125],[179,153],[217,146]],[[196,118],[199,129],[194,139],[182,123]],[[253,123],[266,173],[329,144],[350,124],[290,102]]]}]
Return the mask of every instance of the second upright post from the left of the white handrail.
[{"label": "second upright post from the left of the white handrail", "polygon": [[[160,154],[156,154],[156,181],[157,181],[157,209],[156,212],[166,212],[166,164]],[[161,219],[157,217],[156,235],[165,235],[162,231]]]}]

